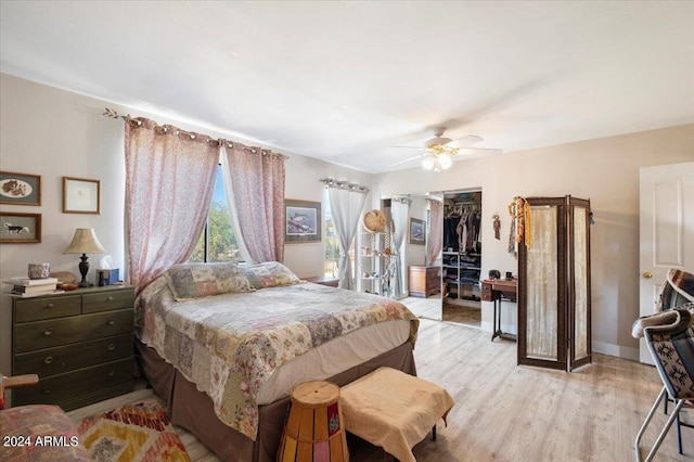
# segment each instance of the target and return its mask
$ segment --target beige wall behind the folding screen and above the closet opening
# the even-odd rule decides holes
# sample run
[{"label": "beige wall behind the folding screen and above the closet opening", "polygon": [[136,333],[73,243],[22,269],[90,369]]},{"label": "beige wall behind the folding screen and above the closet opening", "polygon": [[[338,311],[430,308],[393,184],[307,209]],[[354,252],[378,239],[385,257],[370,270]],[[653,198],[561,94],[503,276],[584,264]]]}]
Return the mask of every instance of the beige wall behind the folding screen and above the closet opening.
[{"label": "beige wall behind the folding screen and above the closet opening", "polygon": [[[638,359],[630,332],[639,317],[639,168],[687,161],[694,161],[694,125],[461,161],[440,174],[414,168],[376,175],[372,194],[481,188],[483,275],[490,269],[516,273],[516,260],[506,253],[506,206],[514,196],[590,198],[593,348]],[[500,241],[493,239],[494,213],[501,217]],[[504,309],[504,330],[515,332],[510,313]],[[483,329],[491,331],[491,304],[484,303]]]}]

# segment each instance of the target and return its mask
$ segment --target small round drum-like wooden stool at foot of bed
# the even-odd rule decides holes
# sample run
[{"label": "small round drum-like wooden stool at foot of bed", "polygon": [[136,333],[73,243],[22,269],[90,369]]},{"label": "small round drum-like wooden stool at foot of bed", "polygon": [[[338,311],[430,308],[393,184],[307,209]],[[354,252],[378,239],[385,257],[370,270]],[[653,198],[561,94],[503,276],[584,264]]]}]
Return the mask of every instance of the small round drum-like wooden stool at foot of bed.
[{"label": "small round drum-like wooden stool at foot of bed", "polygon": [[307,382],[292,392],[292,407],[282,433],[279,462],[346,462],[349,460],[339,387]]}]

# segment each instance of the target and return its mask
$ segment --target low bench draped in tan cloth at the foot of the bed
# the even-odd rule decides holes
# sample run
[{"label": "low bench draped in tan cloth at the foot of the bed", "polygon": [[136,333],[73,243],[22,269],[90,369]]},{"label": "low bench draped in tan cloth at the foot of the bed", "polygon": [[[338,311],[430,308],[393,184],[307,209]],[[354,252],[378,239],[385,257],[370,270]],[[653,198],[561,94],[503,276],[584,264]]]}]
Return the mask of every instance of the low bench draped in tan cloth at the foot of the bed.
[{"label": "low bench draped in tan cloth at the foot of the bed", "polygon": [[445,388],[404,372],[380,368],[340,389],[347,432],[381,446],[401,462],[454,405]]}]

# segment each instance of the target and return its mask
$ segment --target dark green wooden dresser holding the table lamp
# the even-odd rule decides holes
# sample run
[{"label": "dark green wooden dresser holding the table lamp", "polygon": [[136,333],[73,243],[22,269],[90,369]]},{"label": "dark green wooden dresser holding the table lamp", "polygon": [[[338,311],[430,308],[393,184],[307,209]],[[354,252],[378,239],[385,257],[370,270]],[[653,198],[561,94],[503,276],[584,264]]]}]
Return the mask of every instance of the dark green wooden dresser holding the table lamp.
[{"label": "dark green wooden dresser holding the table lamp", "polygon": [[13,406],[80,408],[132,392],[131,286],[12,298],[12,374],[38,374]]}]

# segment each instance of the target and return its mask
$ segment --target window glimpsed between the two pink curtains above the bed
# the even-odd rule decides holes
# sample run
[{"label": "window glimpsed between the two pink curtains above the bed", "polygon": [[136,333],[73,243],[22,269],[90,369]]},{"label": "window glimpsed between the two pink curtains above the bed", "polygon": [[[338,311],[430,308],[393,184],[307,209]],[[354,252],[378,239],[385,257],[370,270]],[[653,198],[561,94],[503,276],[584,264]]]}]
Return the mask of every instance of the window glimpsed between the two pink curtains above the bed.
[{"label": "window glimpsed between the two pink curtains above the bed", "polygon": [[224,183],[221,179],[221,166],[218,166],[207,223],[189,261],[217,262],[239,261],[240,259],[236,235],[229,216]]}]

